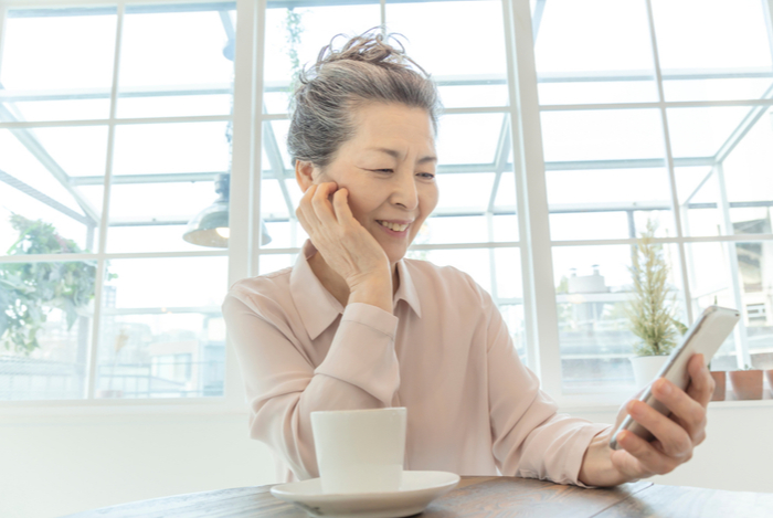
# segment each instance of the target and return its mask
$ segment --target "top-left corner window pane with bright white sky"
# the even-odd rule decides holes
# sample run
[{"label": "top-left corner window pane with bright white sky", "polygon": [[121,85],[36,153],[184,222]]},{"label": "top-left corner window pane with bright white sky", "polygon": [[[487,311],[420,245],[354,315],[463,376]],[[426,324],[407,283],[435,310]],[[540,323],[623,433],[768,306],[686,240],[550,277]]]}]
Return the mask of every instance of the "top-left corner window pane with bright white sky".
[{"label": "top-left corner window pane with bright white sky", "polygon": [[116,8],[9,10],[0,120],[107,118],[116,20]]}]

